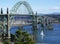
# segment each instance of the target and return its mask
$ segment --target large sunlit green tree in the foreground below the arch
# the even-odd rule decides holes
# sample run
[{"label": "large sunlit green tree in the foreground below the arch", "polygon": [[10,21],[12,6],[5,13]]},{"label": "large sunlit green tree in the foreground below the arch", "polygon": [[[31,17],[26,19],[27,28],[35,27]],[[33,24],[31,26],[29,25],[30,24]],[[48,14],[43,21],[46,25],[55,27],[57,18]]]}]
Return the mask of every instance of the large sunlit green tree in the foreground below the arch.
[{"label": "large sunlit green tree in the foreground below the arch", "polygon": [[14,44],[34,44],[34,41],[27,32],[17,30],[15,34]]}]

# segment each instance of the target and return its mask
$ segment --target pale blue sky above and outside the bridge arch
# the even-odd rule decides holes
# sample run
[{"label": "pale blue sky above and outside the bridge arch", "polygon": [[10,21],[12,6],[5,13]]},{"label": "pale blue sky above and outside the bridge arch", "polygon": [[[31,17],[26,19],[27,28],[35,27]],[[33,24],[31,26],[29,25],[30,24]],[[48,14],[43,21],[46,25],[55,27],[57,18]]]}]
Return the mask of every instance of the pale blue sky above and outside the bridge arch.
[{"label": "pale blue sky above and outside the bridge arch", "polygon": [[19,1],[27,1],[34,13],[53,13],[60,12],[60,0],[0,0],[0,8],[3,8],[6,13],[6,8],[9,10]]}]

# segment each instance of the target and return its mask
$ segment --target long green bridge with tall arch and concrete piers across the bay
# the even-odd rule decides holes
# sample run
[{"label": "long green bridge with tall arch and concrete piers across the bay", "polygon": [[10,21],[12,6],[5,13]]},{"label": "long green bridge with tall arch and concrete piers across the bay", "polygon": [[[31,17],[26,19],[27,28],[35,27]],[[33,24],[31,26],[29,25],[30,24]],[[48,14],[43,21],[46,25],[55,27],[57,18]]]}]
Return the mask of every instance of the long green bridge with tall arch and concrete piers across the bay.
[{"label": "long green bridge with tall arch and concrete piers across the bay", "polygon": [[[23,12],[20,13],[20,11],[22,11],[22,10],[24,11],[24,9],[19,10],[21,5],[25,6],[25,8],[28,12],[27,14],[23,13]],[[53,20],[54,20],[54,18],[53,18]],[[29,3],[26,1],[20,1],[20,2],[16,3],[10,11],[7,8],[6,14],[3,14],[3,9],[1,8],[0,36],[11,38],[10,28],[12,26],[18,26],[19,28],[23,28],[23,26],[32,25],[33,34],[31,36],[35,40],[36,39],[35,32],[36,32],[36,30],[38,30],[37,24],[43,24],[44,26],[52,29],[51,19],[49,17],[39,16],[39,15],[37,15],[37,12],[34,14]]]}]

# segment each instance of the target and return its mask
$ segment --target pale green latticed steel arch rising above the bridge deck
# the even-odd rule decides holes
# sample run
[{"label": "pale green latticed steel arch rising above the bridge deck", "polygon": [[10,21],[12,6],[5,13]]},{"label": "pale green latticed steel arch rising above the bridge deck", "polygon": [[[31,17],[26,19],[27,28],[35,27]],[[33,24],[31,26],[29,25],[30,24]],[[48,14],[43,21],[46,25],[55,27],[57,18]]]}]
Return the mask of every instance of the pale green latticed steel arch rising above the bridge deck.
[{"label": "pale green latticed steel arch rising above the bridge deck", "polygon": [[31,8],[30,5],[29,5],[29,3],[26,2],[26,1],[20,1],[20,2],[16,3],[16,4],[13,6],[13,8],[10,10],[10,13],[11,13],[11,14],[16,13],[16,12],[18,11],[19,7],[21,6],[21,4],[23,4],[23,5],[27,8],[29,14],[31,14],[31,15],[34,14],[33,11],[32,11],[32,8]]}]

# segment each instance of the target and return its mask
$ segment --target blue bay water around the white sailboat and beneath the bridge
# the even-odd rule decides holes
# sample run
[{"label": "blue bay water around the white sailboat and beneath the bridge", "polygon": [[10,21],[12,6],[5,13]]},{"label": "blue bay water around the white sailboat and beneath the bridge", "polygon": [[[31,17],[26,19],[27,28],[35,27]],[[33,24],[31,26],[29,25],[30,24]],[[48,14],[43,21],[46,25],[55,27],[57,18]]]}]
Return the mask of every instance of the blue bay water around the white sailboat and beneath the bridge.
[{"label": "blue bay water around the white sailboat and beneath the bridge", "polygon": [[[42,39],[41,33],[41,25],[38,24],[38,30],[36,32],[36,42],[37,43],[47,43],[47,44],[60,44],[60,24],[52,24],[53,30],[44,30],[44,37]],[[29,34],[32,34],[32,26],[24,26],[23,31],[27,31]],[[11,33],[15,34],[15,31],[18,29],[18,26],[11,27]]]}]

